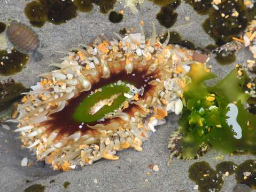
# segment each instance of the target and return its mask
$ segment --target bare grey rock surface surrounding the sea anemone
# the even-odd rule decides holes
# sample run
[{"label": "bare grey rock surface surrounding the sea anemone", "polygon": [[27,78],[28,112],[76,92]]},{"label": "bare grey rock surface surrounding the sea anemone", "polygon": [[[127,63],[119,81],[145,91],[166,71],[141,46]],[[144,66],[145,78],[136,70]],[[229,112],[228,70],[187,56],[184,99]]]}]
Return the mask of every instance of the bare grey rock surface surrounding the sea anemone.
[{"label": "bare grey rock surface surrounding the sea anemone", "polygon": [[[6,3],[7,2],[7,3]],[[18,20],[29,25],[24,14],[25,4],[20,0],[0,0],[0,21],[8,19]],[[128,7],[117,3],[115,10],[125,10],[124,19],[117,24],[108,21],[107,15],[99,13],[95,6],[90,13],[78,13],[78,17],[60,26],[46,23],[42,28],[34,28],[41,39],[41,47],[38,49],[43,54],[40,62],[30,59],[26,68],[17,75],[12,76],[16,81],[25,86],[31,86],[38,81],[37,76],[51,70],[48,65],[58,61],[63,55],[56,51],[69,50],[80,43],[91,43],[97,34],[113,36],[113,32],[118,32],[121,28],[134,27],[138,31],[139,21],[145,22],[146,35],[151,34],[151,22],[156,23],[157,32],[161,34],[166,31],[155,19],[160,7],[151,2],[145,1],[140,7],[139,13],[132,13]],[[184,39],[195,43],[196,46],[205,46],[213,43],[213,40],[205,34],[201,23],[207,16],[198,15],[191,6],[182,3],[176,10],[179,13],[177,22],[170,30],[178,31]],[[186,21],[185,17],[190,17]],[[246,65],[246,60],[251,59],[251,54],[247,49],[239,51],[237,61]],[[214,73],[219,78],[224,77],[234,68],[235,63],[229,66],[220,66],[214,58],[208,62],[212,65]],[[1,77],[6,78],[6,77]],[[214,80],[216,81],[216,80]],[[35,156],[27,149],[21,149],[21,142],[18,133],[13,133],[15,125],[7,131],[0,128],[0,191],[23,191],[25,188],[41,183],[46,186],[45,191],[197,191],[193,190],[195,183],[188,177],[189,166],[197,161],[206,161],[214,167],[221,161],[214,159],[221,155],[211,150],[203,158],[194,161],[183,161],[174,159],[170,167],[167,166],[168,150],[167,143],[170,134],[177,127],[177,117],[169,115],[167,123],[157,127],[157,132],[152,134],[148,141],[143,143],[143,151],[137,152],[132,149],[123,150],[118,153],[119,161],[107,161],[102,159],[93,165],[83,167],[81,171],[58,172],[50,167],[37,168],[34,166],[21,167],[21,160],[28,157],[30,161],[35,160]],[[8,153],[6,153],[8,151]],[[246,159],[253,158],[250,155],[224,156],[222,161],[233,161],[242,163]],[[159,172],[153,172],[148,164],[157,164]],[[146,175],[146,172],[151,172]],[[49,183],[50,180],[55,183]],[[94,180],[97,179],[98,183]],[[148,179],[148,182],[145,182]],[[26,180],[31,182],[26,183]],[[68,188],[63,187],[63,183],[69,181]],[[226,178],[222,191],[232,191],[236,185],[234,175]]]}]

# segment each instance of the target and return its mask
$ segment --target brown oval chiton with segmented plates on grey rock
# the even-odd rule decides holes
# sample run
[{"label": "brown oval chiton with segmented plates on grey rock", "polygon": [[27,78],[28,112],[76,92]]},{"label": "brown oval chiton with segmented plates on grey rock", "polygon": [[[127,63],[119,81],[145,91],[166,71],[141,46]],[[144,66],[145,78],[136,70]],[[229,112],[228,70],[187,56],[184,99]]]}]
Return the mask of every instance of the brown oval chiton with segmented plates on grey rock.
[{"label": "brown oval chiton with segmented plates on grey rock", "polygon": [[33,52],[39,46],[39,39],[32,29],[16,21],[8,26],[7,36],[15,48],[23,53]]}]

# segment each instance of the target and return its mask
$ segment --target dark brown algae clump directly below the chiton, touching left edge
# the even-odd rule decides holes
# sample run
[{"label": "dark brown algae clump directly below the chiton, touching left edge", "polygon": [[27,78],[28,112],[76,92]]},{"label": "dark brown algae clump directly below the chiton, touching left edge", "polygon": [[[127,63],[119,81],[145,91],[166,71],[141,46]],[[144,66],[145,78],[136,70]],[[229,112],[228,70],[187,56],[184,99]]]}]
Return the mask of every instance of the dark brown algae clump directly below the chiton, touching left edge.
[{"label": "dark brown algae clump directly below the chiton, touching left edge", "polygon": [[0,74],[9,76],[20,72],[26,66],[28,59],[27,54],[15,49],[11,53],[0,51]]}]

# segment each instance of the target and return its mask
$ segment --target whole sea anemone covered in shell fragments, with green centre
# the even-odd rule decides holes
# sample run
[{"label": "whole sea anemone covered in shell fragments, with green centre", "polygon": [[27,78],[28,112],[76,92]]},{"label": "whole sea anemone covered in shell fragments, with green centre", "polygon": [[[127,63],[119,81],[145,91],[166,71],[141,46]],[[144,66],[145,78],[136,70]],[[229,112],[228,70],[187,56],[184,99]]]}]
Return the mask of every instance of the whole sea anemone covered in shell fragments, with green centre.
[{"label": "whole sea anemone covered in shell fragments, with green centre", "polygon": [[116,152],[142,151],[154,126],[168,112],[181,113],[183,87],[190,81],[193,51],[160,43],[152,36],[127,34],[66,52],[59,69],[41,74],[18,106],[22,147],[55,170],[70,170]]}]

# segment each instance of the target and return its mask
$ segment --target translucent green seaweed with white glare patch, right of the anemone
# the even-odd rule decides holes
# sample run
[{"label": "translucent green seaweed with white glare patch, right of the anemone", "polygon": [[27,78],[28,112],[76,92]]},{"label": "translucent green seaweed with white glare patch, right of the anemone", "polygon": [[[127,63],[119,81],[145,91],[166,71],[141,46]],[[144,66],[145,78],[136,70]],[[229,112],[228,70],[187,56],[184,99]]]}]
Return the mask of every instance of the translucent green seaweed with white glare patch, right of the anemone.
[{"label": "translucent green seaweed with white glare patch, right of the anemone", "polygon": [[[185,135],[180,140],[182,155],[187,158],[195,157],[203,142],[223,153],[232,153],[238,149],[256,151],[256,116],[243,106],[250,98],[242,89],[248,79],[245,72],[239,76],[238,70],[241,69],[234,69],[218,84],[207,87],[205,81],[215,75],[206,73],[203,65],[191,67],[188,75],[192,83],[184,88],[186,108],[180,120]],[[228,112],[234,112],[233,108],[237,108],[238,114],[237,118],[233,114],[232,120],[238,125],[228,123],[231,119]]]}]

